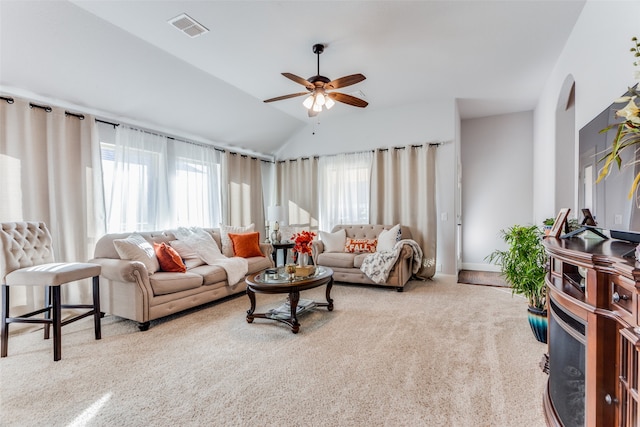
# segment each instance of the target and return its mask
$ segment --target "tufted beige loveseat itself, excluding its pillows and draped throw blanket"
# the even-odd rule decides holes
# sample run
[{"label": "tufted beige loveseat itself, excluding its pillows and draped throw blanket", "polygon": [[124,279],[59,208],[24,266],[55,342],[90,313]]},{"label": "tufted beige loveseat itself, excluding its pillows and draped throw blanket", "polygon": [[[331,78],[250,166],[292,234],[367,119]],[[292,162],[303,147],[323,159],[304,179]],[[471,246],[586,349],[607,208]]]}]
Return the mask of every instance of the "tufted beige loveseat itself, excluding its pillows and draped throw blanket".
[{"label": "tufted beige loveseat itself, excluding its pillows and draped throw blanket", "polygon": [[[344,229],[346,237],[351,239],[377,239],[383,230],[390,230],[393,225],[336,225],[332,233]],[[400,227],[400,240],[411,239],[411,231],[408,227]],[[330,267],[337,282],[362,283],[367,285],[381,285],[394,287],[398,292],[404,290],[404,285],[409,281],[414,271],[414,251],[409,245],[402,246],[400,255],[389,273],[385,283],[376,283],[364,274],[360,267],[368,253],[326,252],[321,240],[312,242],[312,257],[316,265]]]}]

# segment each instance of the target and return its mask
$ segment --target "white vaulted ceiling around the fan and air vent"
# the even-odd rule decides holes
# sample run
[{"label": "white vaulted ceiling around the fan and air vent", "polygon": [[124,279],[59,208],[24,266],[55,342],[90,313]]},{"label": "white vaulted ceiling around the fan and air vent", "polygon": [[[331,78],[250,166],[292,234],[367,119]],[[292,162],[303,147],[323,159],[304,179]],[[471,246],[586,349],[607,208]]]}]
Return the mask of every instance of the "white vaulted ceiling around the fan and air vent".
[{"label": "white vaulted ceiling around the fan and air vent", "polygon": [[[463,118],[531,110],[584,0],[0,0],[0,93],[270,154],[309,123],[284,78],[362,73],[369,102],[327,118],[433,99]],[[182,13],[209,32],[190,38]]]}]

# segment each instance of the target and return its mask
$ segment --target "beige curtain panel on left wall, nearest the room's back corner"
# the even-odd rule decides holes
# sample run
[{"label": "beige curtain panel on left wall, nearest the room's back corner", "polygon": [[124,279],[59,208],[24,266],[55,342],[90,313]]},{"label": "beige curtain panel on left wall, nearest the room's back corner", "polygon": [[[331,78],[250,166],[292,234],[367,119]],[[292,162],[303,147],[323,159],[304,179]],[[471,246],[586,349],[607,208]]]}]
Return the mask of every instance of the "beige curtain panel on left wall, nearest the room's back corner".
[{"label": "beige curtain panel on left wall, nearest the room's back corner", "polygon": [[255,224],[264,240],[264,201],[261,160],[225,152],[222,156],[222,218],[226,225]]}]

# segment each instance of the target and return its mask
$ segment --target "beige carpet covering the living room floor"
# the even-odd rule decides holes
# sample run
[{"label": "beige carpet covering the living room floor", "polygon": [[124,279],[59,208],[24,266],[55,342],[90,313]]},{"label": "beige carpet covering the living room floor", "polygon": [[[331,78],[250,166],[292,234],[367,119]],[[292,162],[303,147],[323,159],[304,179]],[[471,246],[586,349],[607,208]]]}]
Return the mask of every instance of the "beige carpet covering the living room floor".
[{"label": "beige carpet covering the living room floor", "polygon": [[[302,297],[321,299],[323,289]],[[546,346],[508,289],[336,285],[335,310],[245,321],[241,296],[139,332],[108,316],[41,331],[0,359],[2,426],[544,426]],[[257,295],[258,309],[281,298]]]}]

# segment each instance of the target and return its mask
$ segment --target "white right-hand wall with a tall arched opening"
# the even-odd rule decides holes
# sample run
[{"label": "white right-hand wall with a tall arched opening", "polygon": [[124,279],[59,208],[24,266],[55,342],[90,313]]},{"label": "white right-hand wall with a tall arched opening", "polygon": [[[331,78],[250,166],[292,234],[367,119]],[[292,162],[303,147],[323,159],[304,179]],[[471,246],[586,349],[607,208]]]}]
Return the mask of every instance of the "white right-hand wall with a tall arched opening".
[{"label": "white right-hand wall with a tall arched opening", "polygon": [[[534,220],[555,217],[556,107],[568,75],[576,82],[575,135],[633,85],[631,37],[640,37],[640,1],[588,0],[534,114]],[[574,145],[577,141],[573,142]],[[577,149],[576,149],[577,150]],[[626,191],[626,190],[625,190]]]}]

